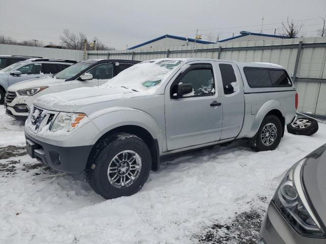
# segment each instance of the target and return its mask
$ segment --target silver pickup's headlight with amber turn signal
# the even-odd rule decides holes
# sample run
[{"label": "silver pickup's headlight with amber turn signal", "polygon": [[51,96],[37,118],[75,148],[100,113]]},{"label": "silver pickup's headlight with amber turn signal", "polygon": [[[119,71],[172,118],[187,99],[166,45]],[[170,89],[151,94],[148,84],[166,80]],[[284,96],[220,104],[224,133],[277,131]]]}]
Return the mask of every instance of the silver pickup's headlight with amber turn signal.
[{"label": "silver pickup's headlight with amber turn signal", "polygon": [[87,118],[85,113],[60,112],[50,127],[50,131],[72,131],[80,124],[80,121]]}]

